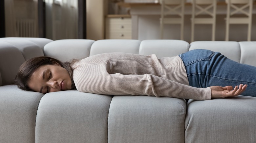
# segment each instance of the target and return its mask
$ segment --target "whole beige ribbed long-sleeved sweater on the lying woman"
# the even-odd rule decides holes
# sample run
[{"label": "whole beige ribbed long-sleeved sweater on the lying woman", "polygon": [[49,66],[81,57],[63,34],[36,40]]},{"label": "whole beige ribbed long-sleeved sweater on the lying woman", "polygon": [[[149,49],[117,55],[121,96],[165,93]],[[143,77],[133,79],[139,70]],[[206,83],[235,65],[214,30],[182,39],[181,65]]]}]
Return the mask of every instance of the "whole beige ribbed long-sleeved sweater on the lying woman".
[{"label": "whole beige ribbed long-sleeved sweater on the lying woman", "polygon": [[78,91],[106,95],[148,95],[185,99],[211,99],[211,89],[190,87],[179,56],[158,59],[128,53],[90,56],[75,64]]}]

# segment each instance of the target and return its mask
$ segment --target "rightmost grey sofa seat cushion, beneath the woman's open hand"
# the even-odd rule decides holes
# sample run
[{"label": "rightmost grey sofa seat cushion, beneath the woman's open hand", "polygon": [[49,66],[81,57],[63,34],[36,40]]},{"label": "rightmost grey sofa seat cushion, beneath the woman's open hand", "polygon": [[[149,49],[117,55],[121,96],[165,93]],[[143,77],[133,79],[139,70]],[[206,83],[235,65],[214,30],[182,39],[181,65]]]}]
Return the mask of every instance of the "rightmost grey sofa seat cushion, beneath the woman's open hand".
[{"label": "rightmost grey sofa seat cushion, beneath the woman's open hand", "polygon": [[237,96],[205,101],[189,100],[185,142],[256,141],[256,98]]}]

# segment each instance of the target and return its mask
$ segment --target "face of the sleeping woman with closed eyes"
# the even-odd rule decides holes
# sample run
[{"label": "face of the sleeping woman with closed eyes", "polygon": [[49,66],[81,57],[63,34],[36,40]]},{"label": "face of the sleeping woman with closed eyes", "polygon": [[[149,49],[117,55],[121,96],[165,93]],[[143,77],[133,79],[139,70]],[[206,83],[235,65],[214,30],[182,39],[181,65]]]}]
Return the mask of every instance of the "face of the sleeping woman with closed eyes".
[{"label": "face of the sleeping woman with closed eyes", "polygon": [[44,65],[36,69],[28,81],[30,89],[48,93],[71,89],[71,78],[66,69],[58,63]]}]

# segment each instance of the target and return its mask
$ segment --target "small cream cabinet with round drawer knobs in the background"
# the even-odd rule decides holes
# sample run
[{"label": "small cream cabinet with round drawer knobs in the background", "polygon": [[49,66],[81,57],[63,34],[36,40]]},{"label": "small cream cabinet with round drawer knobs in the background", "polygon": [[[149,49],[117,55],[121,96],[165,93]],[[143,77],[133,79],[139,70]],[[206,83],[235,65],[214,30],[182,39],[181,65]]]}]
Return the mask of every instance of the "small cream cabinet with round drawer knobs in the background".
[{"label": "small cream cabinet with round drawer knobs in the background", "polygon": [[107,15],[105,39],[132,39],[130,15]]}]

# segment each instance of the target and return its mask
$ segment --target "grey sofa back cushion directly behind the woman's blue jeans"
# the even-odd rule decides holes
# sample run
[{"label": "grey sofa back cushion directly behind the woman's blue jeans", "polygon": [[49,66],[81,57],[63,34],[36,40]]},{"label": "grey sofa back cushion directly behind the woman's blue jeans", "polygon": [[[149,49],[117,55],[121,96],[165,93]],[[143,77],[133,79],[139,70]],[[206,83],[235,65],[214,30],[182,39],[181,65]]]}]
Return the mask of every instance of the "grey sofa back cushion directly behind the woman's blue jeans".
[{"label": "grey sofa back cushion directly behind the woman's blue jeans", "polygon": [[207,49],[214,52],[220,52],[224,56],[240,62],[240,45],[235,41],[195,41],[190,43],[189,50]]}]

